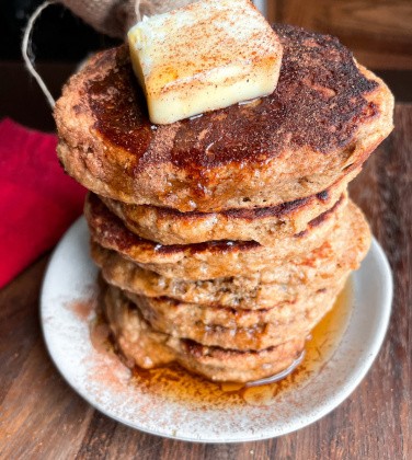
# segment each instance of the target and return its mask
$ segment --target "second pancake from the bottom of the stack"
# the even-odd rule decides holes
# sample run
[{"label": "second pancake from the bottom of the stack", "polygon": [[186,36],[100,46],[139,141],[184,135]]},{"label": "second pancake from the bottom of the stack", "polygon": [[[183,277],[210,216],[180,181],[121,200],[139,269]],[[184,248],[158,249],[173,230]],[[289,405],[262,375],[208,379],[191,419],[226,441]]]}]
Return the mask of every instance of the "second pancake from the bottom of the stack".
[{"label": "second pancake from the bottom of the stack", "polygon": [[307,298],[299,301],[283,302],[263,310],[237,310],[183,303],[167,297],[125,295],[156,331],[207,346],[260,350],[308,336],[333,307],[344,281],[342,279],[337,285],[308,292]]}]

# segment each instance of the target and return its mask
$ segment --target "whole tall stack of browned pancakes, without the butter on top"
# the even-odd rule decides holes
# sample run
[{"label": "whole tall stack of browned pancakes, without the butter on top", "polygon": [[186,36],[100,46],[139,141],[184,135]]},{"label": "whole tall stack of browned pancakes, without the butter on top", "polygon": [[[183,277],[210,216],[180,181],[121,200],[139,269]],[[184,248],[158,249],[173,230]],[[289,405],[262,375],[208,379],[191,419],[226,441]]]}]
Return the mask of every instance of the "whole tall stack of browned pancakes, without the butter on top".
[{"label": "whole tall stack of browned pancakes, without the butter on top", "polygon": [[302,354],[370,241],[347,183],[392,129],[392,96],[336,38],[276,25],[267,97],[153,125],[128,49],[103,51],[56,105],[85,203],[104,311],[130,366],[213,380]]}]

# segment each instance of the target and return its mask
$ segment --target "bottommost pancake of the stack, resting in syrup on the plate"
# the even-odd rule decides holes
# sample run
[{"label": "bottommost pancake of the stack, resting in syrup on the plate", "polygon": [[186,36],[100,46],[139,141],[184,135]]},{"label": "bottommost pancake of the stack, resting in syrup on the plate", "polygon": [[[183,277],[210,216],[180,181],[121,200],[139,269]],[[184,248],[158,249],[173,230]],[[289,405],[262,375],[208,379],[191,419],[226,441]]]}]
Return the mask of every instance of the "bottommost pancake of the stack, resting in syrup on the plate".
[{"label": "bottommost pancake of the stack, resting in syrup on the plate", "polygon": [[173,361],[214,381],[248,382],[286,369],[299,358],[305,337],[260,352],[209,347],[154,331],[119,290],[107,290],[103,304],[118,350],[127,366],[145,369]]}]

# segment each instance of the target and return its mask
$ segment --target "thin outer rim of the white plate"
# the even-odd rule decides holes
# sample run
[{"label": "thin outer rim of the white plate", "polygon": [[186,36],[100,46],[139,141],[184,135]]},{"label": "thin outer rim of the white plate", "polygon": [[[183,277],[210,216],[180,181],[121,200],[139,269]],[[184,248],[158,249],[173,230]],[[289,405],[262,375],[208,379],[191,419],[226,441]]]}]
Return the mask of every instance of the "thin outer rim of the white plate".
[{"label": "thin outer rim of the white plate", "polygon": [[[385,254],[382,248],[380,246],[380,244],[378,243],[378,241],[375,239],[375,237],[373,237],[370,249],[368,251],[368,254],[365,256],[365,260],[369,255],[369,253],[371,253],[373,256],[375,256],[377,258],[377,261],[378,261],[378,264],[376,265],[377,271],[379,272],[379,276],[382,280],[382,284],[385,285],[385,287],[382,288],[384,299],[381,300],[380,308],[379,308],[379,312],[380,312],[380,315],[378,317],[379,327],[377,329],[377,331],[375,331],[376,335],[374,337],[373,346],[367,349],[368,353],[365,356],[363,366],[360,366],[360,367],[358,366],[357,368],[355,368],[351,371],[351,378],[348,379],[348,381],[345,381],[339,388],[339,391],[333,395],[333,398],[330,398],[327,402],[323,402],[320,406],[320,410],[309,411],[309,413],[307,413],[305,415],[305,417],[299,417],[297,422],[295,422],[290,426],[287,426],[285,429],[282,430],[282,433],[268,434],[268,433],[259,433],[258,432],[258,433],[254,433],[253,435],[251,435],[249,437],[244,436],[243,434],[240,434],[240,435],[238,434],[238,437],[236,437],[237,434],[233,433],[233,437],[231,437],[231,438],[227,438],[227,437],[226,438],[220,438],[220,437],[195,438],[195,437],[187,437],[187,436],[182,436],[182,435],[179,435],[179,434],[173,434],[173,433],[171,433],[171,430],[170,432],[162,430],[162,429],[154,430],[154,429],[151,429],[150,427],[146,427],[146,426],[141,426],[141,425],[136,426],[136,424],[133,423],[131,421],[125,419],[124,417],[121,417],[117,414],[113,414],[111,411],[106,410],[104,407],[104,404],[99,404],[98,402],[91,400],[90,394],[88,394],[85,391],[83,391],[83,389],[79,389],[76,386],[76,383],[72,381],[73,379],[70,379],[70,376],[67,376],[65,373],[64,369],[61,368],[61,366],[59,364],[59,360],[55,356],[55,350],[53,349],[53,347],[50,347],[50,341],[49,341],[49,337],[48,337],[48,330],[47,330],[47,322],[46,322],[46,318],[45,318],[45,314],[46,314],[45,313],[46,292],[47,292],[48,283],[49,283],[48,279],[52,276],[50,275],[52,268],[53,268],[54,263],[56,263],[55,261],[56,261],[56,257],[58,256],[59,251],[61,250],[61,248],[65,244],[67,244],[68,240],[70,240],[70,238],[72,238],[72,235],[76,237],[76,232],[81,231],[81,226],[84,226],[84,225],[85,225],[85,220],[84,220],[83,216],[79,217],[71,225],[71,227],[65,232],[65,234],[62,235],[62,238],[58,242],[57,246],[53,251],[52,256],[49,258],[49,262],[47,264],[45,275],[44,275],[44,278],[43,278],[41,295],[39,295],[42,334],[43,334],[43,337],[44,337],[44,342],[46,344],[47,353],[48,353],[52,361],[54,363],[54,366],[56,367],[57,371],[62,377],[65,382],[68,383],[69,387],[77,394],[79,394],[88,404],[90,404],[92,407],[94,407],[96,411],[103,413],[107,417],[110,417],[112,419],[115,419],[116,422],[122,423],[123,425],[129,426],[134,429],[138,429],[142,433],[147,433],[147,434],[154,435],[154,436],[161,436],[163,438],[169,438],[169,439],[174,439],[174,440],[188,441],[188,442],[233,444],[233,442],[248,442],[248,441],[254,441],[254,440],[271,439],[271,438],[274,438],[274,437],[279,437],[279,436],[287,435],[287,434],[290,434],[293,432],[296,432],[298,429],[301,429],[306,426],[311,425],[312,423],[316,423],[317,421],[319,421],[323,416],[328,415],[330,412],[332,412],[334,409],[336,409],[343,401],[345,401],[355,391],[355,389],[358,387],[358,384],[365,378],[366,373],[370,370],[375,359],[377,358],[377,356],[379,354],[379,350],[382,346],[386,334],[388,332],[388,326],[389,326],[389,321],[390,321],[390,315],[391,315],[391,304],[392,304],[392,298],[393,298],[393,278],[392,278],[392,272],[390,269],[390,265],[389,265],[389,262],[386,257],[386,254]],[[90,260],[90,256],[88,256],[88,257]],[[363,263],[364,263],[364,261],[363,261]],[[90,262],[92,263],[91,260],[90,260]],[[360,271],[360,269],[362,269],[362,265],[360,265],[360,268],[358,268],[358,271]],[[352,273],[352,276],[356,276],[356,272],[355,272],[355,275],[354,275],[354,273]],[[354,296],[354,301],[355,301],[355,292],[353,292],[353,296]],[[348,324],[347,329],[350,329],[350,324]],[[345,334],[346,334],[346,332],[345,332]],[[336,350],[340,348],[341,345],[342,344],[340,344],[337,346]],[[332,357],[330,358],[330,360],[331,359],[332,359]],[[316,412],[316,414],[313,412]],[[308,419],[309,419],[309,422],[308,422]],[[267,432],[267,429],[266,429],[266,432]]]}]

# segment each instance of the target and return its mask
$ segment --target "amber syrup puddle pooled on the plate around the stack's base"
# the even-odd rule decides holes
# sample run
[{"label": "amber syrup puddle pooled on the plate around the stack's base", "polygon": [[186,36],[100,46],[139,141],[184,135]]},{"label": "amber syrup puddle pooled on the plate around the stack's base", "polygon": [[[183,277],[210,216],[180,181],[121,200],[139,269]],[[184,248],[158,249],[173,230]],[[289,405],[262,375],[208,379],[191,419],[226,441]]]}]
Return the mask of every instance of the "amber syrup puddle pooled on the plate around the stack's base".
[{"label": "amber syrup puddle pooled on the plate around the stack's base", "polygon": [[[322,366],[332,357],[346,331],[353,308],[353,290],[351,279],[339,295],[334,307],[327,313],[320,323],[312,330],[306,344],[305,355],[291,366],[290,372],[260,380],[259,382],[243,383],[215,383],[203,377],[193,375],[179,365],[157,369],[133,370],[129,384],[139,388],[142,393],[153,394],[165,401],[180,401],[185,404],[196,404],[206,407],[228,405],[256,405],[267,406],[275,403],[276,398],[294,387],[305,384],[311,376],[319,372]],[[101,320],[94,325],[102,327]],[[102,353],[101,345],[96,346],[95,335],[91,327],[93,344]],[[104,335],[102,335],[104,338]],[[106,353],[113,354],[113,345],[107,337],[104,338]],[[279,378],[282,378],[279,380]]]}]

